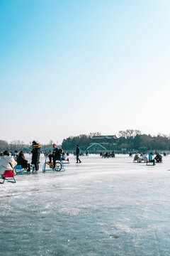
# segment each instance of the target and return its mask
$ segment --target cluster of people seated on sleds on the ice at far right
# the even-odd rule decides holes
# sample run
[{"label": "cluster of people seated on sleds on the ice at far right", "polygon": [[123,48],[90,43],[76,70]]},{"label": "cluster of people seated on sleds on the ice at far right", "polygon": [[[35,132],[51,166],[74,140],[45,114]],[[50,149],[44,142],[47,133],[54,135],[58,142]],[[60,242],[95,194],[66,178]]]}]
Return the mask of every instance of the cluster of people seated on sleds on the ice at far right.
[{"label": "cluster of people seated on sleds on the ice at far right", "polygon": [[137,161],[138,163],[145,161],[145,162],[152,162],[153,165],[155,163],[162,163],[162,155],[157,153],[156,156],[153,158],[153,153],[150,152],[149,154],[135,154],[134,161]]}]

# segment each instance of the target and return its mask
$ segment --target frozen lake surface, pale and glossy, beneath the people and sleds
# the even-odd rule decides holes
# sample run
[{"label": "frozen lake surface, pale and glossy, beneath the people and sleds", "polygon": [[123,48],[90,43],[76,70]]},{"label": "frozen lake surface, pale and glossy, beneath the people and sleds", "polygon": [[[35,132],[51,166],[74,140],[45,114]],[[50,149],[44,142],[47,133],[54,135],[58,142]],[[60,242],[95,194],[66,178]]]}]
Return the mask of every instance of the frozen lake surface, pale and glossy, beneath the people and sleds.
[{"label": "frozen lake surface, pale and glossy, beneath the people and sleds", "polygon": [[69,159],[64,172],[1,185],[1,256],[170,255],[169,156],[156,166]]}]

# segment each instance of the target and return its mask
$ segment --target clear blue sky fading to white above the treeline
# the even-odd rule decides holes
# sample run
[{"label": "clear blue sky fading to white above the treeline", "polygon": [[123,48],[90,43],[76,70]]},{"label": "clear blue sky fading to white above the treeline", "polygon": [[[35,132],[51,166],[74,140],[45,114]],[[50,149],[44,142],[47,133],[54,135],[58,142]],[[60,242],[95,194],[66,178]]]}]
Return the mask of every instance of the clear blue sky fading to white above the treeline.
[{"label": "clear blue sky fading to white above the treeline", "polygon": [[1,0],[1,139],[169,134],[170,1]]}]

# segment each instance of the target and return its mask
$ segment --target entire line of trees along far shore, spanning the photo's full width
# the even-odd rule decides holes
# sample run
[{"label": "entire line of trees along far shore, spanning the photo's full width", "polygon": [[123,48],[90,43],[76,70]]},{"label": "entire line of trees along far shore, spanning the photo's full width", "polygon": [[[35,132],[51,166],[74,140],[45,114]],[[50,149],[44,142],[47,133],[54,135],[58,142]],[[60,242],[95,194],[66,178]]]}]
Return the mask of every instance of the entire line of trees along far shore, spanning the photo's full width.
[{"label": "entire line of trees along far shore, spanning the photo's full width", "polygon": [[[86,150],[87,147],[94,142],[93,136],[101,135],[99,132],[86,134],[80,134],[79,136],[69,137],[63,139],[62,149],[64,150],[75,150],[77,144],[79,144],[81,150]],[[47,144],[42,144],[43,149],[52,148],[52,140]],[[100,142],[102,144],[102,142]],[[15,151],[15,150],[30,150],[30,145],[25,144],[20,140],[13,140],[12,142],[6,142],[0,139],[0,151],[5,149]],[[152,136],[150,134],[142,134],[136,129],[127,129],[125,131],[119,132],[118,140],[114,144],[108,143],[104,144],[106,149],[127,149],[128,151],[132,149],[140,149],[141,147],[146,147],[155,150],[170,150],[170,137],[166,134],[158,134],[157,136]]]}]

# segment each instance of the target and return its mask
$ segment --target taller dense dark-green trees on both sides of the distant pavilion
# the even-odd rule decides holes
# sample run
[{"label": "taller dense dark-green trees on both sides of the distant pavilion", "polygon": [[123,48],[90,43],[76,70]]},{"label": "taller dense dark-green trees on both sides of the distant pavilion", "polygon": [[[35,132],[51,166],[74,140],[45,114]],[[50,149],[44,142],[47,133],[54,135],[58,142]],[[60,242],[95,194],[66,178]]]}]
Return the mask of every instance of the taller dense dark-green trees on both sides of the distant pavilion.
[{"label": "taller dense dark-green trees on both sides of the distant pavilion", "polygon": [[[64,139],[62,142],[62,149],[74,150],[75,146],[79,144],[82,150],[86,150],[89,144],[93,143],[94,140],[91,138],[100,133],[81,134],[76,137],[69,137]],[[101,143],[101,142],[99,142]],[[101,143],[102,144],[102,143]],[[170,150],[170,137],[165,134],[158,134],[152,136],[150,134],[142,134],[137,129],[127,129],[119,132],[118,140],[114,144],[108,145],[105,143],[106,149],[140,149],[140,147],[146,147],[148,150]]]}]

